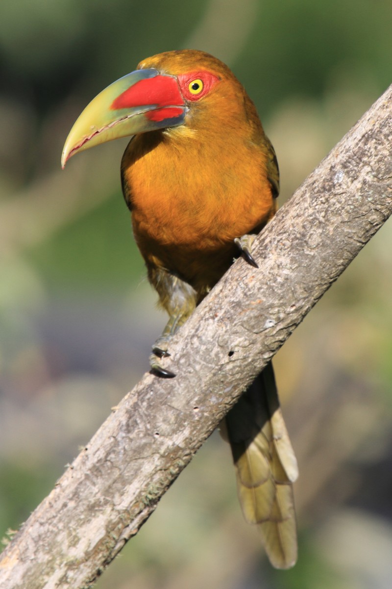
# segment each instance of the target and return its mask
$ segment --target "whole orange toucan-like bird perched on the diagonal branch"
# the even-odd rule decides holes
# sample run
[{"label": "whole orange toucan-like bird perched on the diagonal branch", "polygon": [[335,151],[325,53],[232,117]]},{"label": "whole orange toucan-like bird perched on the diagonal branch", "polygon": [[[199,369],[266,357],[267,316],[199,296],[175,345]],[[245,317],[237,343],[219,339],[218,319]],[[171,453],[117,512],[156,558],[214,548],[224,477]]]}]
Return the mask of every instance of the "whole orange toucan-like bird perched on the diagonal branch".
[{"label": "whole orange toucan-like bird perched on the diagonal branch", "polygon": [[[196,49],[143,59],[93,98],[65,141],[72,155],[131,137],[121,162],[133,235],[159,305],[169,315],[150,355],[162,378],[170,339],[233,259],[257,268],[254,237],[277,210],[279,168],[256,107],[232,71]],[[257,524],[276,568],[297,560],[296,457],[279,405],[272,363],[227,414],[246,521]]]}]

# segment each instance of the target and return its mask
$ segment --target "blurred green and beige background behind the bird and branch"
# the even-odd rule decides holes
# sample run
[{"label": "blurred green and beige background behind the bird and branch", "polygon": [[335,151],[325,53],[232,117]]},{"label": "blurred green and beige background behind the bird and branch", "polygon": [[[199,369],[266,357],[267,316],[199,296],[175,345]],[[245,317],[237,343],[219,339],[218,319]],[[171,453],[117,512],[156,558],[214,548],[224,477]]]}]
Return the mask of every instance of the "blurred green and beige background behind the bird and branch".
[{"label": "blurred green and beige background behind the bird and branch", "polygon": [[[165,316],[120,193],[116,141],[60,157],[87,102],[161,51],[225,61],[278,156],[283,204],[392,81],[390,0],[2,0],[0,537],[148,370]],[[392,577],[386,224],[276,357],[300,463],[299,562],[273,571],[213,435],[99,589],[372,589]]]}]

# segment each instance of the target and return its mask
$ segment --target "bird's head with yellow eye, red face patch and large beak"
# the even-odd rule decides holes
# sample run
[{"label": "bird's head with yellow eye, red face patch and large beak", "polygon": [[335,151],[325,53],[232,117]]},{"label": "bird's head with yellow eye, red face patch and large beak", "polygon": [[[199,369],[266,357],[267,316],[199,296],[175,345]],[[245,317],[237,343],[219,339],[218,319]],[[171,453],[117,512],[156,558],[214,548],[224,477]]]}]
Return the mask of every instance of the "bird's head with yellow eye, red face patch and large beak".
[{"label": "bird's head with yellow eye, red face patch and large beak", "polygon": [[193,49],[154,55],[93,98],[65,141],[61,165],[78,151],[119,137],[192,127],[206,112],[235,115],[244,100],[240,82],[212,55]]}]

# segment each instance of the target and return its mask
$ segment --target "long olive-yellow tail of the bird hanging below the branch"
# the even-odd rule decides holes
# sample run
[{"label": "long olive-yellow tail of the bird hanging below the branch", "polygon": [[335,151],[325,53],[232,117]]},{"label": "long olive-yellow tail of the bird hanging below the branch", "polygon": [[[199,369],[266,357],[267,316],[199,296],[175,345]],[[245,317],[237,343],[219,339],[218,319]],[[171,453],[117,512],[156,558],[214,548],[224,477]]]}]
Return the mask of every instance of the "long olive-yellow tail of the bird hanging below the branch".
[{"label": "long olive-yellow tail of the bird hanging below the branch", "polygon": [[292,484],[298,468],[279,406],[272,363],[227,414],[226,427],[244,517],[259,525],[271,564],[290,568],[297,560]]}]

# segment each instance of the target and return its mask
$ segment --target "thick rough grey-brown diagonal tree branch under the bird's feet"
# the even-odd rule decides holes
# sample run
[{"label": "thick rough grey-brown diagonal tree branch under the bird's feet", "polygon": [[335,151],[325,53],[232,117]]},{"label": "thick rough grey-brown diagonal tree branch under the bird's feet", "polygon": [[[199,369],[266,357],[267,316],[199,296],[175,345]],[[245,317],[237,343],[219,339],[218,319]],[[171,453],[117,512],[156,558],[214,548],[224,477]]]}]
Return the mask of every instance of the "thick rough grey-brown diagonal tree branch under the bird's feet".
[{"label": "thick rough grey-brown diagonal tree branch under the bird's feet", "polygon": [[392,212],[392,86],[233,264],[0,560],[2,589],[86,587]]}]

